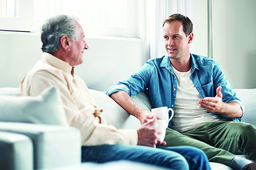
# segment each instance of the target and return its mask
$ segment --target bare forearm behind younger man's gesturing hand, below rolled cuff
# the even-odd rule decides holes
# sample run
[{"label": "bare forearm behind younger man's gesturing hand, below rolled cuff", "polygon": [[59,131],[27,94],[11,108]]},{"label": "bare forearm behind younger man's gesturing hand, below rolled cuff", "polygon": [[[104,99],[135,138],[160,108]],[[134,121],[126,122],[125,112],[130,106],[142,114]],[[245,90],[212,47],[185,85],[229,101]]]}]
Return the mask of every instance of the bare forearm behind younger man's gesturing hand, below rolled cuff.
[{"label": "bare forearm behind younger man's gesturing hand, below rolled cuff", "polygon": [[219,113],[230,118],[240,118],[243,115],[240,104],[235,101],[230,103],[223,102],[223,106]]}]

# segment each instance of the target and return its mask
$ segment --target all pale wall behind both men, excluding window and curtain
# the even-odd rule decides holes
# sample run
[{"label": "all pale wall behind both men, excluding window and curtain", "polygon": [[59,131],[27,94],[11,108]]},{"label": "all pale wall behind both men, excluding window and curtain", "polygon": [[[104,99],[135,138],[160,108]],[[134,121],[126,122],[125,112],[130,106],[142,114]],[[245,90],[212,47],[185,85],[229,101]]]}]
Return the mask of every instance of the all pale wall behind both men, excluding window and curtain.
[{"label": "all pale wall behind both men, excluding window and curtain", "polygon": [[[193,0],[193,52],[208,56],[208,0]],[[256,1],[212,0],[213,59],[232,88],[256,88]],[[105,91],[149,58],[148,41],[88,38],[77,66],[89,88]],[[40,36],[0,31],[0,87],[17,87],[41,58]]]}]

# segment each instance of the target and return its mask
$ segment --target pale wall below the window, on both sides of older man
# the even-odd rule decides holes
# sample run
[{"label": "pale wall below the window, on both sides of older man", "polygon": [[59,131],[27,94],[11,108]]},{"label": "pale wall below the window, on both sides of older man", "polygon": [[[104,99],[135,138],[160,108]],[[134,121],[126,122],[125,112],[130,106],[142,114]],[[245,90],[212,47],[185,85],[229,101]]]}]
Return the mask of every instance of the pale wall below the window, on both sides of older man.
[{"label": "pale wall below the window, on both sides of older man", "polygon": [[[139,39],[87,38],[84,63],[75,74],[87,86],[107,91],[133,74],[150,58],[150,43]],[[41,59],[40,35],[0,31],[0,87],[18,87],[22,78]]]}]

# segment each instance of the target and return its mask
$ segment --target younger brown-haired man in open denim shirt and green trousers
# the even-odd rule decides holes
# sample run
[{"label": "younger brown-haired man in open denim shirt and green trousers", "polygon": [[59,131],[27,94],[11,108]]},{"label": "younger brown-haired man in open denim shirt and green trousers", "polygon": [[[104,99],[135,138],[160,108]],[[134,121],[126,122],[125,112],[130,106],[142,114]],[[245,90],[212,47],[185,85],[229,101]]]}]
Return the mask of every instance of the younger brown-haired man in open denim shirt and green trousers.
[{"label": "younger brown-haired man in open denim shirt and green trousers", "polygon": [[[256,169],[256,128],[241,122],[243,104],[216,61],[191,54],[193,24],[181,14],[163,23],[166,56],[148,60],[107,94],[141,124],[154,116],[130,96],[148,88],[153,107],[167,106],[174,116],[166,129],[167,146],[194,146],[208,159],[233,169]],[[241,159],[235,154],[245,154]]]}]

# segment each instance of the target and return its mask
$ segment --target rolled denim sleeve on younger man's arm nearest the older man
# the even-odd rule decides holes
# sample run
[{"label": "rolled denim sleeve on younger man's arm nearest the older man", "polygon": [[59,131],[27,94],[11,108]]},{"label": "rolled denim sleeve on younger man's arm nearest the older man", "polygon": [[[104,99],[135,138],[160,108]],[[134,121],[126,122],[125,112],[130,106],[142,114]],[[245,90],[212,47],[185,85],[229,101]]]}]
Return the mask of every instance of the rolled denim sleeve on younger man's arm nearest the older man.
[{"label": "rolled denim sleeve on younger man's arm nearest the older man", "polygon": [[116,85],[111,86],[107,95],[118,91],[125,91],[129,96],[133,96],[147,89],[154,65],[148,60],[135,74],[126,77],[124,80],[119,81]]}]

